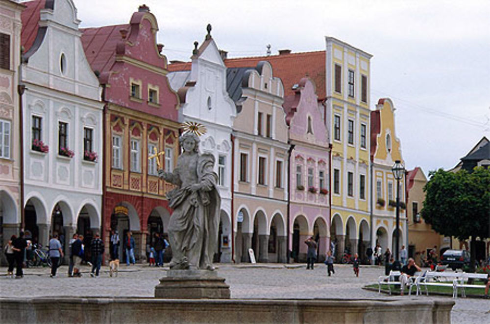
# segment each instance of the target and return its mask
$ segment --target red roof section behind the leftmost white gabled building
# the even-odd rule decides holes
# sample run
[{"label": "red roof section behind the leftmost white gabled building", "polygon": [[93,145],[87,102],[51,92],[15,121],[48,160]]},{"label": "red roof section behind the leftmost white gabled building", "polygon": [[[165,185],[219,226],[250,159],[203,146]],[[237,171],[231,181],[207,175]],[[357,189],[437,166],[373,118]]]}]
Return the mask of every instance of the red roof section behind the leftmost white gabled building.
[{"label": "red roof section behind the leftmost white gabled building", "polygon": [[27,52],[36,39],[39,29],[39,19],[41,17],[40,10],[45,7],[46,0],[29,1],[23,4],[25,5],[25,9],[21,14],[21,45],[24,46],[24,52]]}]

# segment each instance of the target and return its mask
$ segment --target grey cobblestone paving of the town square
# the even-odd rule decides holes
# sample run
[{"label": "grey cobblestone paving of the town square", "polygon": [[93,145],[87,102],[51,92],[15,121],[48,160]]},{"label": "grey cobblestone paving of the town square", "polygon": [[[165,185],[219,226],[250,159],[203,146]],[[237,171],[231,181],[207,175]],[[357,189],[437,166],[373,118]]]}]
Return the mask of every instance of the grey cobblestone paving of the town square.
[{"label": "grey cobblestone paving of the town square", "polygon": [[[49,278],[48,268],[25,269],[25,278],[7,278],[6,268],[0,268],[1,297],[38,296],[107,296],[153,297],[159,278],[166,276],[166,268],[121,265],[117,278],[109,277],[102,267],[99,278],[91,278],[90,268],[82,266],[81,278],[68,278],[67,267],[58,269],[57,278]],[[231,298],[240,299],[399,299],[450,298],[434,296],[389,296],[361,289],[375,283],[384,274],[384,268],[361,267],[356,278],[352,266],[335,265],[335,274],[328,277],[326,267],[318,264],[315,270],[306,270],[301,264],[218,264],[218,275],[230,285]],[[457,324],[490,323],[490,300],[458,298],[451,312],[451,322]]]}]

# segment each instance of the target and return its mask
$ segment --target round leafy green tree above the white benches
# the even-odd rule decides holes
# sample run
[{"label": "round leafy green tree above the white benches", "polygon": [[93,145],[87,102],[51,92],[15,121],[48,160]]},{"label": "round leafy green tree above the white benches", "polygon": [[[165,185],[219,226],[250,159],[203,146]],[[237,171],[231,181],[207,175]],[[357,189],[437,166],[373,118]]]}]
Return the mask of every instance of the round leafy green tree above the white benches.
[{"label": "round leafy green tree above the white benches", "polygon": [[470,268],[474,271],[476,238],[490,237],[490,169],[439,169],[431,171],[429,178],[420,213],[439,234],[460,240],[471,238]]}]

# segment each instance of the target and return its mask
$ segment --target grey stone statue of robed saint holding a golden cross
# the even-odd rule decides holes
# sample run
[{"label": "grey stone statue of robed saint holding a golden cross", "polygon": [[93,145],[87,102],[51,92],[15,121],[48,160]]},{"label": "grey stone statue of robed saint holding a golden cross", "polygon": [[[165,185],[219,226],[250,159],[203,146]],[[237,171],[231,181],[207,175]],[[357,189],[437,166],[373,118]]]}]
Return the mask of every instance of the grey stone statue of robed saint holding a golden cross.
[{"label": "grey stone statue of robed saint holding a golden cross", "polygon": [[179,138],[182,154],[173,172],[158,175],[177,187],[167,193],[173,208],[169,223],[172,246],[171,269],[214,270],[213,256],[218,243],[221,198],[216,188],[212,154],[199,154],[199,137],[184,133]]}]

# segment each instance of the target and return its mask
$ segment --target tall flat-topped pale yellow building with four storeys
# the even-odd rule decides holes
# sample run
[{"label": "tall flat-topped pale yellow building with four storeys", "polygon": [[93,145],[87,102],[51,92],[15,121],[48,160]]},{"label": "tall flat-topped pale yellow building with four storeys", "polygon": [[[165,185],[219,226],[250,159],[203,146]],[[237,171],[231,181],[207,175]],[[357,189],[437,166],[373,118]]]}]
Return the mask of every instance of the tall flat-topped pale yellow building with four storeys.
[{"label": "tall flat-topped pale yellow building with four storeys", "polygon": [[338,259],[344,249],[363,257],[370,242],[371,57],[363,50],[326,37],[325,120],[332,143],[330,239],[337,243]]}]

